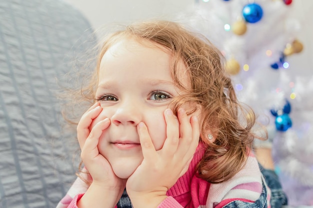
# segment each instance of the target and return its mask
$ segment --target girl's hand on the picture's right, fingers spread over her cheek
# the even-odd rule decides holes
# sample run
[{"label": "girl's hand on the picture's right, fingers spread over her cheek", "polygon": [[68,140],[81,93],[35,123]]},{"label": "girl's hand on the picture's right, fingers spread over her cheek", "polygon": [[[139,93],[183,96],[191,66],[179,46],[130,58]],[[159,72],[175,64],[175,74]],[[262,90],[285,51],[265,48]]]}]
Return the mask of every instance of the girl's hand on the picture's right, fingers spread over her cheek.
[{"label": "girl's hand on the picture's right, fingers spread over her cheek", "polygon": [[[188,169],[199,142],[199,123],[196,116],[189,119],[180,108],[177,118],[170,109],[164,112],[166,140],[156,151],[147,127],[137,125],[143,161],[129,177],[126,191],[134,208],[156,208],[170,189]],[[179,121],[179,122],[178,122]]]}]

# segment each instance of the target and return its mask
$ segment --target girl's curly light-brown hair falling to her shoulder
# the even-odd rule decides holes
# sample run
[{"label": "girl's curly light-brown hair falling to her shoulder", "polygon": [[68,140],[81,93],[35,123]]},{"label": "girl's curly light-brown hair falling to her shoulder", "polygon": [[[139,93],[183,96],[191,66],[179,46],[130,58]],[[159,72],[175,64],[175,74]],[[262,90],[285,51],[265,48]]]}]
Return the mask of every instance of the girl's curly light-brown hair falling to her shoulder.
[{"label": "girl's curly light-brown hair falling to her shoulder", "polygon": [[[229,75],[224,70],[222,54],[200,34],[170,21],[147,21],[128,25],[124,30],[110,34],[97,57],[96,73],[80,93],[94,102],[100,60],[107,49],[125,38],[149,40],[169,49],[173,57],[171,75],[174,83],[187,93],[174,97],[171,108],[176,113],[179,106],[190,103],[200,106],[200,141],[205,153],[197,165],[198,177],[209,183],[221,183],[233,177],[245,164],[252,149],[255,123],[253,111],[240,104],[236,98]],[[167,50],[168,52],[168,50]],[[187,68],[191,89],[183,86],[178,70],[181,61]],[[196,107],[188,113],[192,113]],[[211,143],[208,132],[215,138]]]}]

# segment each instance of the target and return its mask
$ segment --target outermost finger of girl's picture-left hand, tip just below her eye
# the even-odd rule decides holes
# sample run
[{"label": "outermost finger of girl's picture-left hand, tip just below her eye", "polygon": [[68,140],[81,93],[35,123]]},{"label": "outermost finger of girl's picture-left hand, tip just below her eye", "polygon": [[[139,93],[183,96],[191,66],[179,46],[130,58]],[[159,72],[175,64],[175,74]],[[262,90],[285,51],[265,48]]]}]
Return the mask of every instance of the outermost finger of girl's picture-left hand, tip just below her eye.
[{"label": "outermost finger of girl's picture-left hand, tip just below her eye", "polygon": [[81,116],[76,129],[80,149],[83,147],[86,138],[89,136],[90,125],[93,119],[95,119],[101,111],[102,108],[100,106],[96,106],[95,108],[87,111]]}]

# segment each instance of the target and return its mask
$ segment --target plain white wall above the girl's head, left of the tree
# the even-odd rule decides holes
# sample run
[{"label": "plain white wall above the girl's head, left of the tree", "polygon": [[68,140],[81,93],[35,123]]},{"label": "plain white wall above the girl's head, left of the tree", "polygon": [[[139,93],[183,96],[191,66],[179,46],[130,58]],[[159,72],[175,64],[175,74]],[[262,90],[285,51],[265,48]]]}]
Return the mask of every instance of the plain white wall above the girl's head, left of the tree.
[{"label": "plain white wall above the girl's head, left of the tree", "polygon": [[97,28],[111,22],[171,18],[194,5],[194,0],[64,0],[78,8]]}]

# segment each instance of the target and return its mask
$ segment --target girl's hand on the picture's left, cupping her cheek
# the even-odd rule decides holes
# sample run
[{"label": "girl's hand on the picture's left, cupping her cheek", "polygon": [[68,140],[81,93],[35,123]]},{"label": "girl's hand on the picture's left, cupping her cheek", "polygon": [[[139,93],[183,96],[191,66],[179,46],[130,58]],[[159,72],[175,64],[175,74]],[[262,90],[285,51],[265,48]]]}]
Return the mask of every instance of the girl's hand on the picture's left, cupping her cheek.
[{"label": "girl's hand on the picture's left, cupping her cheek", "polygon": [[90,130],[92,121],[102,111],[99,103],[92,105],[80,118],[77,125],[77,139],[81,149],[81,160],[92,177],[92,184],[102,186],[105,190],[117,191],[121,196],[125,188],[125,180],[119,179],[114,174],[111,165],[99,153],[99,138],[109,125],[110,120],[105,118]]}]

